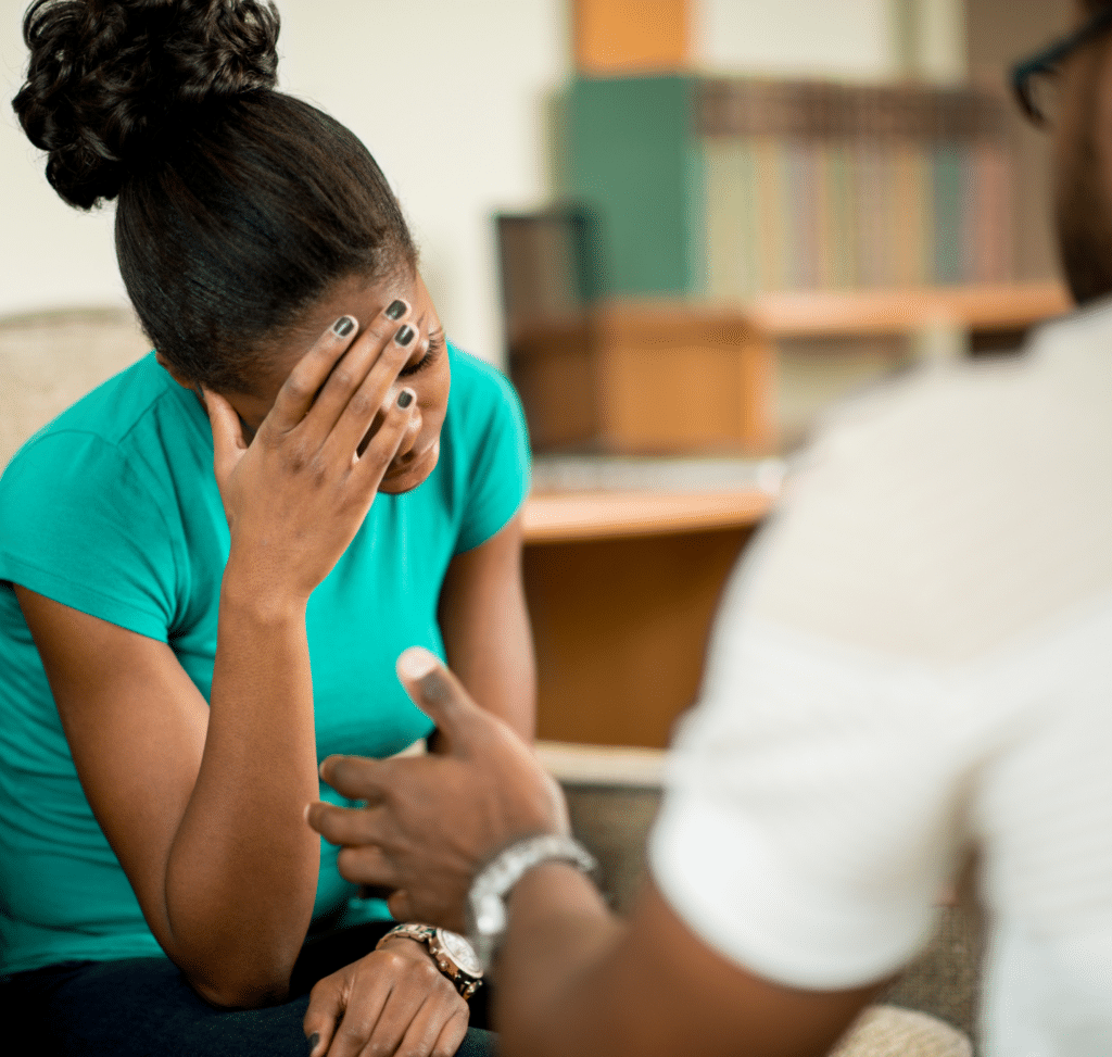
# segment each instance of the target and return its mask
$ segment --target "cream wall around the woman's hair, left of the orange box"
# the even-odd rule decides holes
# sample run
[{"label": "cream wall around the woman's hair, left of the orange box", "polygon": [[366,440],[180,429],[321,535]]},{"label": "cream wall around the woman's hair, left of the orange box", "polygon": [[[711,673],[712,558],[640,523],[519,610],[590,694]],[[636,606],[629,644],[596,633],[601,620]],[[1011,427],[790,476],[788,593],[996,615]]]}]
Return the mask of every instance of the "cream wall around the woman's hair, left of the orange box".
[{"label": "cream wall around the woman's hair, left of the orange box", "polygon": [[[0,0],[10,100],[24,0]],[[563,0],[278,0],[280,86],[348,125],[393,182],[455,340],[502,355],[490,214],[549,195],[546,106],[569,71]],[[123,299],[111,208],[64,206],[7,102],[0,312]]]}]

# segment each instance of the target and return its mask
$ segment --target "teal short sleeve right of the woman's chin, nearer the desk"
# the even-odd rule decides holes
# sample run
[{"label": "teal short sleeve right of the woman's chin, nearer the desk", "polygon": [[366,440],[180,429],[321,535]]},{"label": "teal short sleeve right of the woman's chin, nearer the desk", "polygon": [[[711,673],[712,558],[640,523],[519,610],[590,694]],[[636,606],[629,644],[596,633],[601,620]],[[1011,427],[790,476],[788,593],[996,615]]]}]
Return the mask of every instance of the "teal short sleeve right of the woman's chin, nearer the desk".
[{"label": "teal short sleeve right of the woman's chin, nearer the desk", "polygon": [[456,553],[498,533],[529,492],[529,442],[520,401],[497,368],[454,350],[450,413],[467,452],[466,501]]}]

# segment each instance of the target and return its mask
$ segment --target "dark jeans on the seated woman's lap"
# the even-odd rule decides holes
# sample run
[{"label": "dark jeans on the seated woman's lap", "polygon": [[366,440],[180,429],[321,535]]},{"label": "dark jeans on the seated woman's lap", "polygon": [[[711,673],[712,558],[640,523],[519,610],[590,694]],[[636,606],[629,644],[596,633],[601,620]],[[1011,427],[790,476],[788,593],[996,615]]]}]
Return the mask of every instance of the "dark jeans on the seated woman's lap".
[{"label": "dark jeans on the seated woman's lap", "polygon": [[[321,977],[370,951],[393,922],[310,939],[290,999],[266,1009],[222,1010],[198,998],[168,958],[78,961],[18,972],[0,984],[4,1034],[43,1057],[306,1057],[301,1019]],[[486,987],[470,1000],[471,1027],[457,1057],[494,1057]]]}]

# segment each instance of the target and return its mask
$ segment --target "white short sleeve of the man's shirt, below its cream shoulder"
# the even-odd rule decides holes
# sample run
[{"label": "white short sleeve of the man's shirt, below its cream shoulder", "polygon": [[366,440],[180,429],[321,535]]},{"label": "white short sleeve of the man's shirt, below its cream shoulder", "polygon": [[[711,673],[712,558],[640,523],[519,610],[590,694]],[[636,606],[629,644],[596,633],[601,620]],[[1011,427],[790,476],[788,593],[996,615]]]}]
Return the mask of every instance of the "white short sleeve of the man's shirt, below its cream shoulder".
[{"label": "white short sleeve of the man's shirt, below its cream shoulder", "polygon": [[792,546],[766,534],[727,589],[649,861],[707,946],[767,979],[841,989],[929,939],[980,747],[940,669],[753,611]]}]

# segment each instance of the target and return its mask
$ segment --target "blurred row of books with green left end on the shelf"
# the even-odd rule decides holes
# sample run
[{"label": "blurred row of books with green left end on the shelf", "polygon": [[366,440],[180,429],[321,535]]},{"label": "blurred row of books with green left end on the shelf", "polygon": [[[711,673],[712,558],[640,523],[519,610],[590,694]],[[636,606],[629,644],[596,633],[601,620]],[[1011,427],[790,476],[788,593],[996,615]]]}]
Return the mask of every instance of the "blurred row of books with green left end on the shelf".
[{"label": "blurred row of books with green left end on the shelf", "polygon": [[562,191],[597,217],[614,296],[1004,283],[1009,107],[987,88],[579,76]]}]

